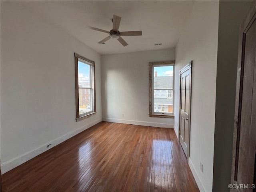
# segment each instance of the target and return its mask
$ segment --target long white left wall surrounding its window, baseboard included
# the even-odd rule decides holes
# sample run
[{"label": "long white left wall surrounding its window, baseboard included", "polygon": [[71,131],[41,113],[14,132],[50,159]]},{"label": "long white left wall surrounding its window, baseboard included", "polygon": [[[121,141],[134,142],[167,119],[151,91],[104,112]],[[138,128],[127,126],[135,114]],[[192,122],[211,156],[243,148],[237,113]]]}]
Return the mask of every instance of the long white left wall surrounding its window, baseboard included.
[{"label": "long white left wall surrounding its window, baseboard included", "polygon": [[[76,122],[74,52],[96,62],[96,115]],[[6,172],[100,122],[100,54],[1,1],[1,163]],[[47,148],[48,149],[48,148]]]}]

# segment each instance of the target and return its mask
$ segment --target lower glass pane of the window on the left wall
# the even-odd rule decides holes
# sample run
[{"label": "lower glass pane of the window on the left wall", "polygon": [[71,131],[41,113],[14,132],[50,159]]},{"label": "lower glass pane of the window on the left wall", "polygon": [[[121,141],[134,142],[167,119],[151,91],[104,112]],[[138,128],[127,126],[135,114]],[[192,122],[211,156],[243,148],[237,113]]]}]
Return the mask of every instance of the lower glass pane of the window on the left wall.
[{"label": "lower glass pane of the window on the left wall", "polygon": [[92,99],[91,89],[82,89],[79,90],[79,114],[84,114],[91,111],[92,109]]}]

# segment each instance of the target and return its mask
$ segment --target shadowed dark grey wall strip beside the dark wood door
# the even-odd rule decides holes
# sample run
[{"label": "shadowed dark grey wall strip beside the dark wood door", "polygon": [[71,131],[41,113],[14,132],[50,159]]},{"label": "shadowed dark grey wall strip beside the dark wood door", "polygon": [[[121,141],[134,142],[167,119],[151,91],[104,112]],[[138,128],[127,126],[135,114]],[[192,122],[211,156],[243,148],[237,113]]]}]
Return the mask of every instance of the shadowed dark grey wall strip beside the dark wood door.
[{"label": "shadowed dark grey wall strip beside the dark wood door", "polygon": [[244,0],[220,1],[213,191],[230,191],[227,186],[231,178],[238,34],[240,23],[249,11],[251,3],[252,1]]}]

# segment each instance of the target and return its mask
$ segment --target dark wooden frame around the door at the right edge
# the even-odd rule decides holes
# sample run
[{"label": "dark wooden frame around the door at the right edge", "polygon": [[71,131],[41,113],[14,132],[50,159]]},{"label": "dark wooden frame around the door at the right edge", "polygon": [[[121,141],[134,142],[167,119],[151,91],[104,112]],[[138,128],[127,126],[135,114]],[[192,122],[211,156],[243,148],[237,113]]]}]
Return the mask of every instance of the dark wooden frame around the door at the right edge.
[{"label": "dark wooden frame around the door at the right edge", "polygon": [[[236,75],[236,102],[235,102],[235,115],[234,115],[234,134],[233,134],[233,154],[232,154],[232,170],[231,170],[231,184],[237,184],[237,168],[238,168],[238,150],[239,137],[240,137],[240,120],[241,120],[241,107],[242,107],[242,91],[244,79],[244,44],[245,34],[256,19],[256,1],[252,3],[252,7],[244,18],[239,29],[239,42],[238,42],[238,64]],[[255,174],[255,171],[254,171]],[[255,180],[255,178],[254,178]],[[236,191],[231,189],[231,191]]]}]

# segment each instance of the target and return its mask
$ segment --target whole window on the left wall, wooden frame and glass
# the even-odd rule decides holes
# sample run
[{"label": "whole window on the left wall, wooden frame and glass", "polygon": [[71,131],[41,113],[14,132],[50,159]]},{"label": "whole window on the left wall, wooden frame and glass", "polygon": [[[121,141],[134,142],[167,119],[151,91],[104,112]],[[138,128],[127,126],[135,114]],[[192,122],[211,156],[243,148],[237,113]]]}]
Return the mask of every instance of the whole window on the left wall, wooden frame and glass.
[{"label": "whole window on the left wall, wooden frame and glass", "polygon": [[94,61],[75,53],[76,121],[96,113],[94,65]]}]

